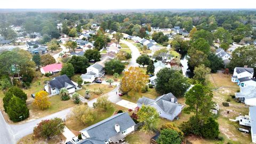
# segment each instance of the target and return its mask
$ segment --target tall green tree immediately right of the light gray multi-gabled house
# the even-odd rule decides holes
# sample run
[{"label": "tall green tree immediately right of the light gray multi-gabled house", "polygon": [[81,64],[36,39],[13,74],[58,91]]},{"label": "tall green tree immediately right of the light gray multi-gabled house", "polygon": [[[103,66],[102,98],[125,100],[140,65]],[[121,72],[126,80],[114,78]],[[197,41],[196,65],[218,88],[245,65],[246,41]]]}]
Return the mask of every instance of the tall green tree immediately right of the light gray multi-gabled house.
[{"label": "tall green tree immediately right of the light gray multi-gabled house", "polygon": [[199,117],[209,117],[212,115],[211,109],[214,107],[212,98],[212,91],[208,87],[195,84],[185,94],[186,105],[188,105],[186,111],[193,112]]}]

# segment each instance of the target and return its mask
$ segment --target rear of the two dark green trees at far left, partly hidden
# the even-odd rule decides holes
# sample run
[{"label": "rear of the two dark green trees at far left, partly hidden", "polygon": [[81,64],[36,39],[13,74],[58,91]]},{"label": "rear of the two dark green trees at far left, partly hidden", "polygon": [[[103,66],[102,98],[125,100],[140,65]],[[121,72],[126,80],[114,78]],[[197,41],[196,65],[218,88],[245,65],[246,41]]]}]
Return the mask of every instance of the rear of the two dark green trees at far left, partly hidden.
[{"label": "rear of the two dark green trees at far left, partly hidden", "polygon": [[27,100],[27,94],[23,92],[18,86],[12,86],[10,89],[5,93],[3,98],[4,103],[4,110],[7,111],[7,107],[9,106],[9,102],[12,99],[13,95],[15,97],[20,98],[23,102]]}]

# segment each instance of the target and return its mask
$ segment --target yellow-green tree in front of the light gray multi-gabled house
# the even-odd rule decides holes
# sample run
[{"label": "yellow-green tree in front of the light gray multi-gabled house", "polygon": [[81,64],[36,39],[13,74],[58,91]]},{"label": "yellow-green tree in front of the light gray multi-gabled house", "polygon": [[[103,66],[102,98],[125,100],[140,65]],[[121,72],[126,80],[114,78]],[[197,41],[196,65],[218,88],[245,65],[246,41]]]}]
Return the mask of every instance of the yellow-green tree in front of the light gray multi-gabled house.
[{"label": "yellow-green tree in front of the light gray multi-gabled house", "polygon": [[142,105],[137,115],[138,121],[144,122],[142,129],[145,131],[154,130],[159,122],[159,115],[154,107]]}]

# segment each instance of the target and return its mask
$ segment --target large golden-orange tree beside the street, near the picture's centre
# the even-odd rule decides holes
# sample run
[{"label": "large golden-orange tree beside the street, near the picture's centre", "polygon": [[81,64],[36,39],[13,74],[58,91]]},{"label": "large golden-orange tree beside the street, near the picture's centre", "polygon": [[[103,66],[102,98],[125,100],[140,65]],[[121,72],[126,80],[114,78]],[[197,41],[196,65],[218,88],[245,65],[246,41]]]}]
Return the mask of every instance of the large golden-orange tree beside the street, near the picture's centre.
[{"label": "large golden-orange tree beside the street, near the picture's centre", "polygon": [[142,87],[148,83],[148,77],[138,67],[130,67],[128,71],[124,72],[120,83],[120,91],[133,96],[135,100],[135,94],[141,92]]}]

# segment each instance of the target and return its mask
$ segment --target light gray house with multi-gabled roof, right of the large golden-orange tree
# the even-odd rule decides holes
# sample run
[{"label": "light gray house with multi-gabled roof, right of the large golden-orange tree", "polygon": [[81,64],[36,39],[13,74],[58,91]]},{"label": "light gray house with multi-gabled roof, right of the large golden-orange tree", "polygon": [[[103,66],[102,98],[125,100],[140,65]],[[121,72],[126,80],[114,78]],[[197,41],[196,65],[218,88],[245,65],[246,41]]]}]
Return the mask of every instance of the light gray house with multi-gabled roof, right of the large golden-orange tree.
[{"label": "light gray house with multi-gabled roof, right of the large golden-orange tree", "polygon": [[178,99],[172,93],[164,94],[156,99],[142,97],[137,101],[137,105],[138,107],[142,105],[154,107],[160,117],[170,121],[178,117],[184,107],[178,103]]}]

